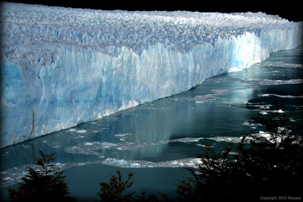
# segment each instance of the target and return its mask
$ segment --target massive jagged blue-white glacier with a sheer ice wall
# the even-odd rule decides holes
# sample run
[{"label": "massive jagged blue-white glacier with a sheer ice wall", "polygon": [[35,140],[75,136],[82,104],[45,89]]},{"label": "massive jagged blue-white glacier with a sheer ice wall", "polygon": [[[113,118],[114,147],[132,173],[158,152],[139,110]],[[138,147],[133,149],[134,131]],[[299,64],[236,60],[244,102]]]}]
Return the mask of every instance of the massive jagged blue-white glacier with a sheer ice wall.
[{"label": "massive jagged blue-white glacier with a sheer ice wall", "polygon": [[302,44],[265,13],[1,3],[0,148],[186,91]]}]

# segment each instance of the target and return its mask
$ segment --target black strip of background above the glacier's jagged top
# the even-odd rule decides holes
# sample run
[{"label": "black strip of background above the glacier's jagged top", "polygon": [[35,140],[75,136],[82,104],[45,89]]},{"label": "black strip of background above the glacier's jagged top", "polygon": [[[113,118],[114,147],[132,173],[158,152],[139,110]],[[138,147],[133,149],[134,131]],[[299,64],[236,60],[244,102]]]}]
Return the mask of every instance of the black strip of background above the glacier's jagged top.
[{"label": "black strip of background above the glacier's jagged top", "polygon": [[[80,0],[81,1],[81,0]],[[303,21],[302,6],[298,1],[35,1],[35,0],[21,0],[21,1],[7,1],[7,2],[21,2],[27,4],[42,4],[48,6],[62,6],[71,8],[90,8],[101,10],[127,10],[127,11],[198,11],[198,12],[265,12],[270,15],[279,15],[289,21]]]}]

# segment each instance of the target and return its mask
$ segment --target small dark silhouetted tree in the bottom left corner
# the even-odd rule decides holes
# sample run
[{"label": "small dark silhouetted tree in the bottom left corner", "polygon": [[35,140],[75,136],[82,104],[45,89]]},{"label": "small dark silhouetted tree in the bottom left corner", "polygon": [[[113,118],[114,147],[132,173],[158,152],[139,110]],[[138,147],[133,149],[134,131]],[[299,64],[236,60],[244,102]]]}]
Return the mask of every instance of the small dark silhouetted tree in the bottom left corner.
[{"label": "small dark silhouetted tree in the bottom left corner", "polygon": [[55,168],[50,161],[55,160],[51,155],[43,154],[36,158],[36,165],[42,169],[28,167],[28,174],[21,178],[24,183],[18,183],[16,188],[8,188],[10,201],[76,201],[76,198],[67,196],[68,186],[60,167]]}]

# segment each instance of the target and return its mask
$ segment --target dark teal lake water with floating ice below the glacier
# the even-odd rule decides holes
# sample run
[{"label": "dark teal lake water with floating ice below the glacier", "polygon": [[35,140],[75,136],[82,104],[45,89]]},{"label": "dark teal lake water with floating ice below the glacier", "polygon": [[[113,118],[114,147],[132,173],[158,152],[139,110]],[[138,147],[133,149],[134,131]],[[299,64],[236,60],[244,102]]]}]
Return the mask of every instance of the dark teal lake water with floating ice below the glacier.
[{"label": "dark teal lake water with floating ice below the glacier", "polygon": [[194,155],[203,153],[205,144],[220,151],[237,142],[241,131],[264,131],[249,117],[274,100],[285,104],[283,115],[301,121],[302,56],[303,46],[278,51],[251,68],[209,78],[189,91],[5,147],[0,150],[2,201],[8,200],[6,187],[15,186],[35,163],[38,149],[57,153],[55,164],[65,169],[71,196],[78,201],[98,200],[98,183],[108,182],[117,169],[124,178],[135,173],[135,184],[125,194],[145,189],[175,197],[172,182],[191,176],[182,168],[199,163]]}]

